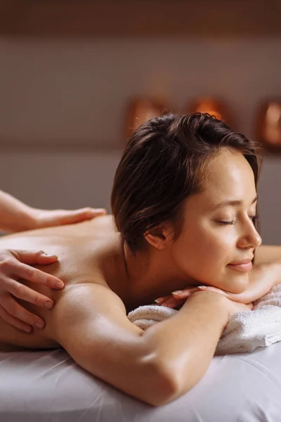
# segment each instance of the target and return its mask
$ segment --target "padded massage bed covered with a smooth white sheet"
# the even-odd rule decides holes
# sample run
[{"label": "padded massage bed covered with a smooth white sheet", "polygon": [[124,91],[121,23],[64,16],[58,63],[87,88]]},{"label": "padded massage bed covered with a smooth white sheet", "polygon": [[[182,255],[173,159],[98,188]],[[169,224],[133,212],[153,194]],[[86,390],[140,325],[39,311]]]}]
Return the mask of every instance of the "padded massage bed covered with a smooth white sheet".
[{"label": "padded massage bed covered with a smooth white sheet", "polygon": [[1,422],[280,422],[281,342],[214,357],[195,388],[151,407],[91,376],[63,349],[0,352]]}]

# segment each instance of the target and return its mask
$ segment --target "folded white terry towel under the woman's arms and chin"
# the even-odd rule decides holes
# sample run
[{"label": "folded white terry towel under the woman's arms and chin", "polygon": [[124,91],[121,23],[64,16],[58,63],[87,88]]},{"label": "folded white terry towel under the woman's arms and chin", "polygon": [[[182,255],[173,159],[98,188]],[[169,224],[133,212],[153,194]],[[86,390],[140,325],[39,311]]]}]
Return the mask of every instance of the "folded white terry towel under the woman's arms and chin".
[{"label": "folded white terry towel under the woman's arms and chin", "polygon": [[[128,318],[146,330],[178,312],[159,305],[140,306]],[[187,321],[188,326],[188,321]],[[281,284],[254,302],[252,311],[232,314],[216,347],[216,355],[253,352],[281,340]]]}]

